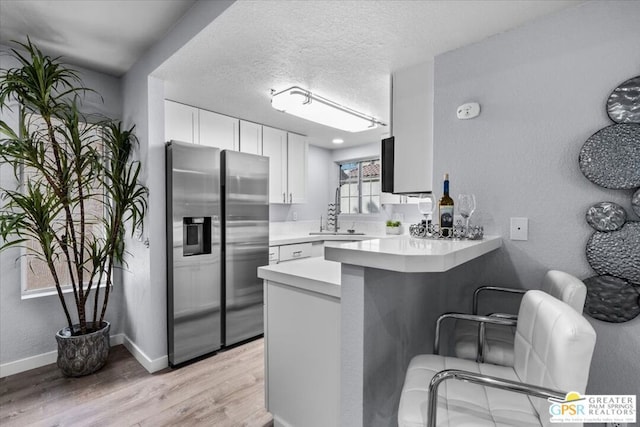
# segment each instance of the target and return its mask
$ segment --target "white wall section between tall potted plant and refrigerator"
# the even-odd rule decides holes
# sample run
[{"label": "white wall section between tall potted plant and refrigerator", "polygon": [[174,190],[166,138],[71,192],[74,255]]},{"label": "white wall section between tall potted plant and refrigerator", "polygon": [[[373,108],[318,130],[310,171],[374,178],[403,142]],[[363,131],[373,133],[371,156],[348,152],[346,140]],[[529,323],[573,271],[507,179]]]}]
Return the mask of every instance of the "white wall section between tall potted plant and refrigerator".
[{"label": "white wall section between tall potted plant and refrigerator", "polygon": [[166,245],[164,185],[164,82],[153,72],[210,25],[233,1],[198,1],[167,36],[148,50],[123,77],[123,118],[135,123],[149,187],[145,237],[149,247],[128,243],[133,267],[124,275],[127,344],[149,371],[167,366]]}]

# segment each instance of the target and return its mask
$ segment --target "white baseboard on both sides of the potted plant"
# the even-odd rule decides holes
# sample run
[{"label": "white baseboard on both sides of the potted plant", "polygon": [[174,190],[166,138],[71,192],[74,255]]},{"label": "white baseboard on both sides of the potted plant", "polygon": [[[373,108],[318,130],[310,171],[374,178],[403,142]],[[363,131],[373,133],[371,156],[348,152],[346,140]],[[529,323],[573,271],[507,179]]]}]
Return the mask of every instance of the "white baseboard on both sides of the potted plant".
[{"label": "white baseboard on both sides of the potted plant", "polygon": [[[149,371],[149,373],[160,371],[169,366],[169,359],[167,356],[160,357],[158,359],[150,359],[125,334],[112,335],[109,339],[109,343],[111,344],[111,347],[120,344],[124,345],[125,348],[129,350],[131,355],[138,361],[138,363],[140,363],[147,371]],[[24,359],[16,360],[13,362],[3,363],[0,365],[0,378],[50,365],[52,363],[56,363],[57,359],[58,351],[54,350],[47,353],[26,357]]]}]

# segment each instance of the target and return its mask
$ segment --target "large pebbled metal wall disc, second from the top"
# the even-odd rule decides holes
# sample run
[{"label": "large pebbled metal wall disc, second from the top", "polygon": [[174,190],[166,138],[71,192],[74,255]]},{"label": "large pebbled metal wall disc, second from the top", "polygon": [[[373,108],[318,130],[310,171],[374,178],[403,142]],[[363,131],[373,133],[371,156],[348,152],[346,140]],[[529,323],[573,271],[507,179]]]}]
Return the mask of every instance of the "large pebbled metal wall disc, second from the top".
[{"label": "large pebbled metal wall disc, second from the top", "polygon": [[640,124],[600,129],[582,146],[578,162],[584,176],[601,187],[640,187]]}]

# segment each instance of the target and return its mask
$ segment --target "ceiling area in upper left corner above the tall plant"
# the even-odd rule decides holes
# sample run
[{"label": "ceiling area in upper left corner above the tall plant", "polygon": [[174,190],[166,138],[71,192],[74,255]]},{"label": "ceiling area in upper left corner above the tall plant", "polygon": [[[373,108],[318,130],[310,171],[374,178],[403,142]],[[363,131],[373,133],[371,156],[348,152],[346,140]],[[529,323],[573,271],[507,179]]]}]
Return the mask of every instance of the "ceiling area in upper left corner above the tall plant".
[{"label": "ceiling area in upper left corner above the tall plant", "polygon": [[119,76],[195,0],[0,0],[0,43],[28,35],[49,55]]}]

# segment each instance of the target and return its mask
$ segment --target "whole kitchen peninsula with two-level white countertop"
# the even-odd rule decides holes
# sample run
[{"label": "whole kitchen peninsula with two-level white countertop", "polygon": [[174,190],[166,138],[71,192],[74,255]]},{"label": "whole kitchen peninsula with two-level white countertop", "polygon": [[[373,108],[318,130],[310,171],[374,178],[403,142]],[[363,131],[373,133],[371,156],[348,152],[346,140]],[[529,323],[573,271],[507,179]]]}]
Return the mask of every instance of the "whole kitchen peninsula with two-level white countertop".
[{"label": "whole kitchen peninsula with two-level white countertop", "polygon": [[[267,407],[276,425],[394,425],[408,361],[432,352],[441,313],[468,309],[469,278],[501,244],[399,236],[260,267]],[[292,315],[295,323],[278,321]]]}]

